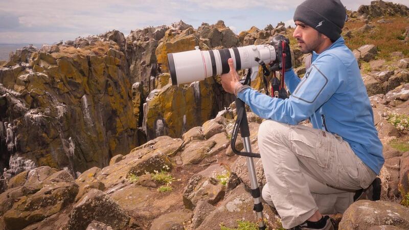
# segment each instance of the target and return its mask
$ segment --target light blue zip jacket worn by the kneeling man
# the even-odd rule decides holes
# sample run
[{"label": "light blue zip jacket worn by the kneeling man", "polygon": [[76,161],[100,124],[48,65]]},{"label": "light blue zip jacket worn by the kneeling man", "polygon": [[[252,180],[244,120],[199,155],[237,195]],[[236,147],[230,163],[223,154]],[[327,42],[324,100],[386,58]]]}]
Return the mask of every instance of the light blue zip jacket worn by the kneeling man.
[{"label": "light blue zip jacket worn by the kneeling man", "polygon": [[287,71],[285,83],[291,93],[285,100],[249,88],[238,98],[262,118],[291,125],[310,119],[314,128],[342,136],[362,162],[379,174],[384,163],[382,144],[358,63],[343,37],[321,54],[313,52],[303,79],[292,69]]}]

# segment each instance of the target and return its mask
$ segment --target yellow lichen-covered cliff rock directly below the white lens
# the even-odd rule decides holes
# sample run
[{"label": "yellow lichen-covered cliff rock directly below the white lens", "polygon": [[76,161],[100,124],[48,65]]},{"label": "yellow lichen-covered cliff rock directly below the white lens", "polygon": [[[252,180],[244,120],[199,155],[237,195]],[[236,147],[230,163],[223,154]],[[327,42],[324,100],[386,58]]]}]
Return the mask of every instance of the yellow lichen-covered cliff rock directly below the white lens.
[{"label": "yellow lichen-covered cliff rock directly below the white lens", "polygon": [[[184,130],[200,126],[215,116],[213,111],[218,111],[225,103],[216,103],[218,98],[222,99],[216,96],[215,86],[213,78],[206,78],[188,87],[166,85],[153,90],[147,98],[145,113],[147,139],[156,137],[161,127],[163,135],[179,137]],[[158,124],[162,124],[161,127]]]}]

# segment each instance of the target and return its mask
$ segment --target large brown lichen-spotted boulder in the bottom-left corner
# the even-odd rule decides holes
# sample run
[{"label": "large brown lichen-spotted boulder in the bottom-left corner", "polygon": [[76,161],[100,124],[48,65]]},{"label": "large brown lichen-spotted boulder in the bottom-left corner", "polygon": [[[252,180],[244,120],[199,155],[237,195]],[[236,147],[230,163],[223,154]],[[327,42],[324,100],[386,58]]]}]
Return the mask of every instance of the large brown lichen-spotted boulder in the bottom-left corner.
[{"label": "large brown lichen-spotted boulder in the bottom-left corner", "polygon": [[41,181],[22,188],[25,196],[4,214],[8,229],[21,229],[61,211],[74,201],[78,185],[66,171],[59,171]]}]

